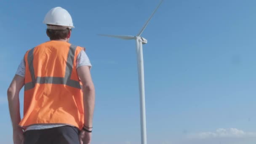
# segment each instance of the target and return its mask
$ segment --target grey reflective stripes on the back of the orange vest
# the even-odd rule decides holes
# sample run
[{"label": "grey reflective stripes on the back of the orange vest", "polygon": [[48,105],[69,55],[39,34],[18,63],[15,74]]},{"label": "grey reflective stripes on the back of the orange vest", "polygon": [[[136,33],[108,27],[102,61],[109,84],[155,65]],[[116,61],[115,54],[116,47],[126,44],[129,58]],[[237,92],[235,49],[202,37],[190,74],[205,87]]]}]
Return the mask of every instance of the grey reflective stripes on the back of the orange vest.
[{"label": "grey reflective stripes on the back of the orange vest", "polygon": [[71,73],[73,69],[73,63],[75,59],[75,45],[70,45],[69,47],[69,53],[67,57],[67,64],[66,64],[66,71],[65,71],[65,77],[35,77],[35,70],[33,65],[34,60],[34,48],[32,48],[27,56],[27,61],[29,64],[29,72],[31,75],[32,82],[26,83],[24,85],[24,91],[27,91],[29,89],[32,89],[35,87],[36,83],[45,84],[45,83],[51,83],[51,84],[63,84],[68,85],[74,88],[81,89],[80,82],[76,80],[71,80]]}]

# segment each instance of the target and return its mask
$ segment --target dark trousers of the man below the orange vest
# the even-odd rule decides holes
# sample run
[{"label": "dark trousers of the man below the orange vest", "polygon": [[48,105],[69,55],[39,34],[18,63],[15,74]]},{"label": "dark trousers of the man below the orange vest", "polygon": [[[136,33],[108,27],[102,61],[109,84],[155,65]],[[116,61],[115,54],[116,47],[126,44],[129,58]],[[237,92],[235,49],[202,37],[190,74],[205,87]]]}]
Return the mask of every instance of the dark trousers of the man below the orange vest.
[{"label": "dark trousers of the man below the orange vest", "polygon": [[24,144],[80,144],[77,128],[61,126],[24,132]]}]

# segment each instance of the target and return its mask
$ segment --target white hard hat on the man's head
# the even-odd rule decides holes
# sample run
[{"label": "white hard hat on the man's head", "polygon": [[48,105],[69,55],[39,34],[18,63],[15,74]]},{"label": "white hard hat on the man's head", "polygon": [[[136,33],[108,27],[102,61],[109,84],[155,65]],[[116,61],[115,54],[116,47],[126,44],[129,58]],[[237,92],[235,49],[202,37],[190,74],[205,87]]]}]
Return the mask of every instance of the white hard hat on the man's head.
[{"label": "white hard hat on the man's head", "polygon": [[[45,19],[43,20],[43,23],[63,26],[68,28],[74,28],[73,21],[69,12],[61,7],[55,7],[55,8],[52,8],[50,11],[48,11],[48,13],[45,15]],[[56,29],[56,27],[54,26],[51,26],[51,27],[53,29]]]}]

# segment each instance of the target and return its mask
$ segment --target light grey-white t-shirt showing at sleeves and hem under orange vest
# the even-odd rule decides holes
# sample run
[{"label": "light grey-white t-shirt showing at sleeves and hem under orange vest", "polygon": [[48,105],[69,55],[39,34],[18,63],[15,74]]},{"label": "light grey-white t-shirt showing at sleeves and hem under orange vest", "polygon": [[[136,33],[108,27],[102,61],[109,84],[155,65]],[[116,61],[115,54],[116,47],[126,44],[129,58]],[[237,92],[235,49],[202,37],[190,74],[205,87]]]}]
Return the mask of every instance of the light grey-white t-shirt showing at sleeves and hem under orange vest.
[{"label": "light grey-white t-shirt showing at sleeves and hem under orange vest", "polygon": [[[92,67],[90,59],[88,58],[87,54],[85,53],[85,51],[81,51],[76,59],[76,65],[78,67],[81,66],[88,66]],[[24,63],[24,59],[21,60],[21,63],[19,64],[19,67],[16,71],[16,75],[19,75],[21,77],[25,77],[25,63]],[[59,126],[64,126],[63,124],[38,124],[38,125],[31,125],[29,127],[27,127],[25,129],[25,131],[29,131],[29,130],[40,130],[40,129],[46,129],[46,128],[55,128],[55,127],[59,127]]]}]

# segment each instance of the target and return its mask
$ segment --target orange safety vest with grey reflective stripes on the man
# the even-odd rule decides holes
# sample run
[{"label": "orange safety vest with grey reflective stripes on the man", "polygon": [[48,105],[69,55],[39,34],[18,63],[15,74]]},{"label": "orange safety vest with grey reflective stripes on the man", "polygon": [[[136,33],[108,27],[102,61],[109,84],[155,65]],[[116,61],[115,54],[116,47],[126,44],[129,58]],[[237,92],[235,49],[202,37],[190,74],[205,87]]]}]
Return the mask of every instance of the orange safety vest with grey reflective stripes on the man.
[{"label": "orange safety vest with grey reflective stripes on the man", "polygon": [[24,56],[24,117],[19,126],[66,124],[83,128],[84,109],[76,59],[85,48],[48,41]]}]

